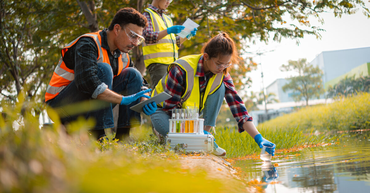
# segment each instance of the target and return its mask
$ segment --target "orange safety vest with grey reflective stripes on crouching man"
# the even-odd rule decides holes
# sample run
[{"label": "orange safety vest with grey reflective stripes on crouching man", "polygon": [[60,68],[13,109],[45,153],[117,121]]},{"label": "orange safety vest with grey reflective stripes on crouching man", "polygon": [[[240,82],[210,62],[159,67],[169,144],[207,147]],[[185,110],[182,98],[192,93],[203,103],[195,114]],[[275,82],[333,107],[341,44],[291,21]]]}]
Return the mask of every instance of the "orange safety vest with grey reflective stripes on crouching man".
[{"label": "orange safety vest with grey reflective stripes on crouching man", "polygon": [[[62,56],[59,59],[59,63],[57,65],[57,67],[55,68],[53,76],[51,77],[49,85],[46,89],[45,101],[48,101],[50,99],[54,99],[54,97],[56,97],[66,86],[68,86],[74,80],[74,70],[69,69],[69,68],[67,68],[67,66],[65,66],[65,63],[63,61],[63,57],[64,57],[64,54],[68,51],[68,48],[73,46],[78,41],[78,39],[80,39],[81,37],[91,37],[91,38],[93,38],[95,40],[95,43],[97,44],[97,46],[99,48],[98,49],[99,53],[98,53],[97,62],[98,63],[105,62],[105,63],[108,63],[109,65],[111,65],[110,62],[109,62],[107,49],[101,47],[101,36],[100,36],[99,32],[101,32],[101,30],[97,31],[97,32],[81,35],[80,37],[76,38],[74,41],[72,41],[71,43],[69,43],[67,46],[65,46],[62,49],[62,51],[61,51]],[[127,65],[125,67],[125,68],[127,68],[129,63],[130,63],[129,62],[129,56],[128,56],[127,53],[124,53],[124,55],[122,55],[122,52],[121,52],[121,55],[118,58],[118,74],[117,75],[119,75],[121,73],[122,69],[124,69],[123,68],[123,63],[124,62],[127,62]]]}]

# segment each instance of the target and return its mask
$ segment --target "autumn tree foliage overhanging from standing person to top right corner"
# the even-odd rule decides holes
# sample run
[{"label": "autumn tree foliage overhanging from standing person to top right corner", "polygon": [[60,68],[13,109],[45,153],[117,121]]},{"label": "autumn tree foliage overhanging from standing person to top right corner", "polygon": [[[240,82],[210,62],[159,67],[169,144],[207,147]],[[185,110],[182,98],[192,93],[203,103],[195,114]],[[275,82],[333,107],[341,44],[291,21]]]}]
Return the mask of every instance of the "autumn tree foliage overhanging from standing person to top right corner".
[{"label": "autumn tree foliage overhanging from standing person to top right corner", "polygon": [[[362,0],[179,0],[171,3],[168,10],[174,24],[182,24],[186,18],[191,18],[200,25],[197,35],[191,41],[185,41],[179,50],[179,56],[185,56],[200,53],[203,42],[221,31],[232,35],[240,53],[245,53],[256,39],[268,42],[271,38],[273,41],[292,38],[298,44],[304,35],[321,38],[323,29],[311,26],[310,16],[323,23],[320,17],[323,12],[332,11],[340,17],[342,14],[355,13],[358,7],[362,7],[366,17],[370,18],[369,9]],[[287,23],[283,15],[298,21],[300,25]],[[248,58],[239,68],[230,72],[237,90],[249,87],[251,80],[245,72],[255,68],[256,64]]]}]

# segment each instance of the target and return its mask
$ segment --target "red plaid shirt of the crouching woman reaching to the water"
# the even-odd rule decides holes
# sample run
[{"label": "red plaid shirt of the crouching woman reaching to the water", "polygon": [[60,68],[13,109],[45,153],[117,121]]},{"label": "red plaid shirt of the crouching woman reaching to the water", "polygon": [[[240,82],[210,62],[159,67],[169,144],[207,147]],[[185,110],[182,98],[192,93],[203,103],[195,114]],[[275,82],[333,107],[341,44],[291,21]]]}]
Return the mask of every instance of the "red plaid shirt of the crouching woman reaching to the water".
[{"label": "red plaid shirt of the crouching woman reaching to the water", "polygon": [[[203,56],[199,58],[198,67],[196,69],[195,76],[199,77],[200,93],[204,92],[208,83],[208,80],[214,76],[212,72],[204,73],[203,70]],[[238,131],[241,133],[244,131],[243,123],[246,121],[252,121],[252,117],[248,114],[245,105],[235,90],[234,83],[229,73],[223,76],[223,84],[226,87],[225,99],[228,103],[233,117],[238,122]],[[186,73],[179,66],[175,65],[168,72],[168,80],[165,88],[165,92],[170,94],[172,97],[165,100],[162,109],[166,113],[170,113],[170,110],[177,107],[180,103],[181,96],[184,94],[186,87]]]}]

